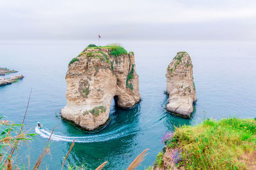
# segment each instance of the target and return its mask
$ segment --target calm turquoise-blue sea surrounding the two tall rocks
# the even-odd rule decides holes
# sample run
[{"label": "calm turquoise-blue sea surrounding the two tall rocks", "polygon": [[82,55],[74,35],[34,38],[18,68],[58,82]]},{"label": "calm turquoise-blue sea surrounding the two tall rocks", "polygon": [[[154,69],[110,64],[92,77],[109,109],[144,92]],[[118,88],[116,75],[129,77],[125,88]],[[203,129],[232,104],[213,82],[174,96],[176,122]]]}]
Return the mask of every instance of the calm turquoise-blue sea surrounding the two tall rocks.
[{"label": "calm turquoise-blue sea surrounding the two tall rocks", "polygon": [[[102,41],[101,45],[113,41]],[[111,106],[111,124],[97,134],[85,134],[63,122],[60,110],[66,104],[65,73],[68,62],[89,43],[97,41],[0,41],[0,67],[18,70],[25,78],[0,87],[0,112],[15,123],[22,122],[33,87],[26,129],[37,138],[21,148],[24,162],[35,164],[54,125],[51,156],[42,167],[60,169],[73,139],[77,143],[67,162],[89,168],[108,160],[106,169],[125,169],[140,152],[149,153],[139,169],[154,163],[163,148],[161,136],[175,126],[196,125],[205,118],[256,117],[255,41],[120,41],[135,53],[140,78],[141,102],[129,110]],[[186,51],[194,65],[197,101],[191,119],[164,110],[168,96],[166,67],[175,54]],[[8,76],[12,76],[9,74]],[[7,76],[7,77],[8,77]],[[40,121],[45,129],[35,129]]]}]

